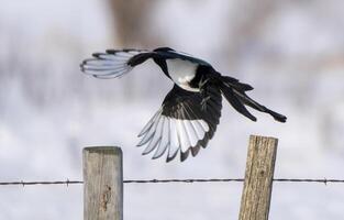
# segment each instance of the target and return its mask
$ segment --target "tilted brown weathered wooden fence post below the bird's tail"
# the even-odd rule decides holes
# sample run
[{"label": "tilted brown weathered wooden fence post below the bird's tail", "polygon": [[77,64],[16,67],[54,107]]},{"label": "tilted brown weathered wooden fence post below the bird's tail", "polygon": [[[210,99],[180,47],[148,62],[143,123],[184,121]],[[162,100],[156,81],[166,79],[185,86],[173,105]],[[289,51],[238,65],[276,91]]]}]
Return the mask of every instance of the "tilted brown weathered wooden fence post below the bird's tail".
[{"label": "tilted brown weathered wooden fence post below the bird's tail", "polygon": [[267,220],[278,140],[249,136],[240,220]]}]

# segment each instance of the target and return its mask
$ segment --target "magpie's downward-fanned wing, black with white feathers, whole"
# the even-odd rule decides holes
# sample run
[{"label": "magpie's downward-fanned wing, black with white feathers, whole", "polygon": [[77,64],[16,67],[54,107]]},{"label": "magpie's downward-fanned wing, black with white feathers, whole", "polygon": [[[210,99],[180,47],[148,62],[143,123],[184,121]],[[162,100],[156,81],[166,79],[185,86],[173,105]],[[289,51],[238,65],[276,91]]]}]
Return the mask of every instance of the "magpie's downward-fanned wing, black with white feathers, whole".
[{"label": "magpie's downward-fanned wing, black with white feathers, whole", "polygon": [[153,158],[167,154],[167,162],[180,152],[180,161],[189,153],[196,156],[213,136],[221,117],[222,97],[218,88],[209,89],[207,108],[201,108],[202,96],[186,91],[177,85],[166,96],[162,108],[143,128],[137,146],[146,145],[143,154],[155,152]]}]

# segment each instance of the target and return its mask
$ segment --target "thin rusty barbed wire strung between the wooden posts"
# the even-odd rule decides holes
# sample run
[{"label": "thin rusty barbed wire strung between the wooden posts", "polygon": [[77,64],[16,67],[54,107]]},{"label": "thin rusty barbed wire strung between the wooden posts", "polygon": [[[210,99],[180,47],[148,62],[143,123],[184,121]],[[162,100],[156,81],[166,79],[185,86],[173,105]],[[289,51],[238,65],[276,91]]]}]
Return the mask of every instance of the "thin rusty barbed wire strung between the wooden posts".
[{"label": "thin rusty barbed wire strung between the wooden posts", "polygon": [[[186,179],[126,179],[123,180],[124,184],[167,184],[167,183],[229,183],[229,182],[244,182],[244,178],[186,178]],[[334,184],[344,184],[344,179],[333,179],[333,178],[274,178],[274,182],[280,183],[320,183],[328,185],[329,183]],[[10,186],[10,185],[78,185],[84,184],[81,180],[57,180],[57,182],[0,182],[0,186]]]}]

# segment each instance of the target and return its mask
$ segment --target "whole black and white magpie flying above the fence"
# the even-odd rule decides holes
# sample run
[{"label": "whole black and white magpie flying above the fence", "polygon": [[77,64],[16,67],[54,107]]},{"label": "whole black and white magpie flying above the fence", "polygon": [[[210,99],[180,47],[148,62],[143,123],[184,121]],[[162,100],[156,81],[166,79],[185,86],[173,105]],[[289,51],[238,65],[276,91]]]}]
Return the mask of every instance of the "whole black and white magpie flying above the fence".
[{"label": "whole black and white magpie flying above the fence", "polygon": [[222,109],[222,96],[232,107],[252,121],[256,118],[246,109],[266,112],[279,122],[287,118],[251,99],[246,91],[253,87],[237,79],[222,76],[209,63],[169,47],[146,50],[108,50],[95,53],[80,65],[85,74],[109,79],[125,75],[135,66],[153,59],[174,81],[162,107],[143,128],[137,146],[145,146],[143,154],[154,153],[153,158],[167,154],[167,162],[178,153],[185,161],[196,156],[213,138]]}]

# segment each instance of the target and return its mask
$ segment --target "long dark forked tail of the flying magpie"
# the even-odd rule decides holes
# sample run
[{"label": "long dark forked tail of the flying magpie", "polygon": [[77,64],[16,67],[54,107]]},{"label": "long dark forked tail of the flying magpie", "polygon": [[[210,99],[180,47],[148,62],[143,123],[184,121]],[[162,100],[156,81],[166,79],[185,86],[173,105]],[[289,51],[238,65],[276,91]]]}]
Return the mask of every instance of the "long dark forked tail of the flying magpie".
[{"label": "long dark forked tail of the flying magpie", "polygon": [[232,105],[232,107],[244,114],[248,119],[256,121],[257,119],[246,109],[245,106],[248,106],[255,110],[265,112],[274,117],[276,121],[286,122],[287,117],[277,113],[265,106],[259,105],[252,98],[249,98],[245,92],[252,90],[253,87],[247,84],[242,84],[237,79],[221,76],[220,89],[224,96],[224,98]]}]

